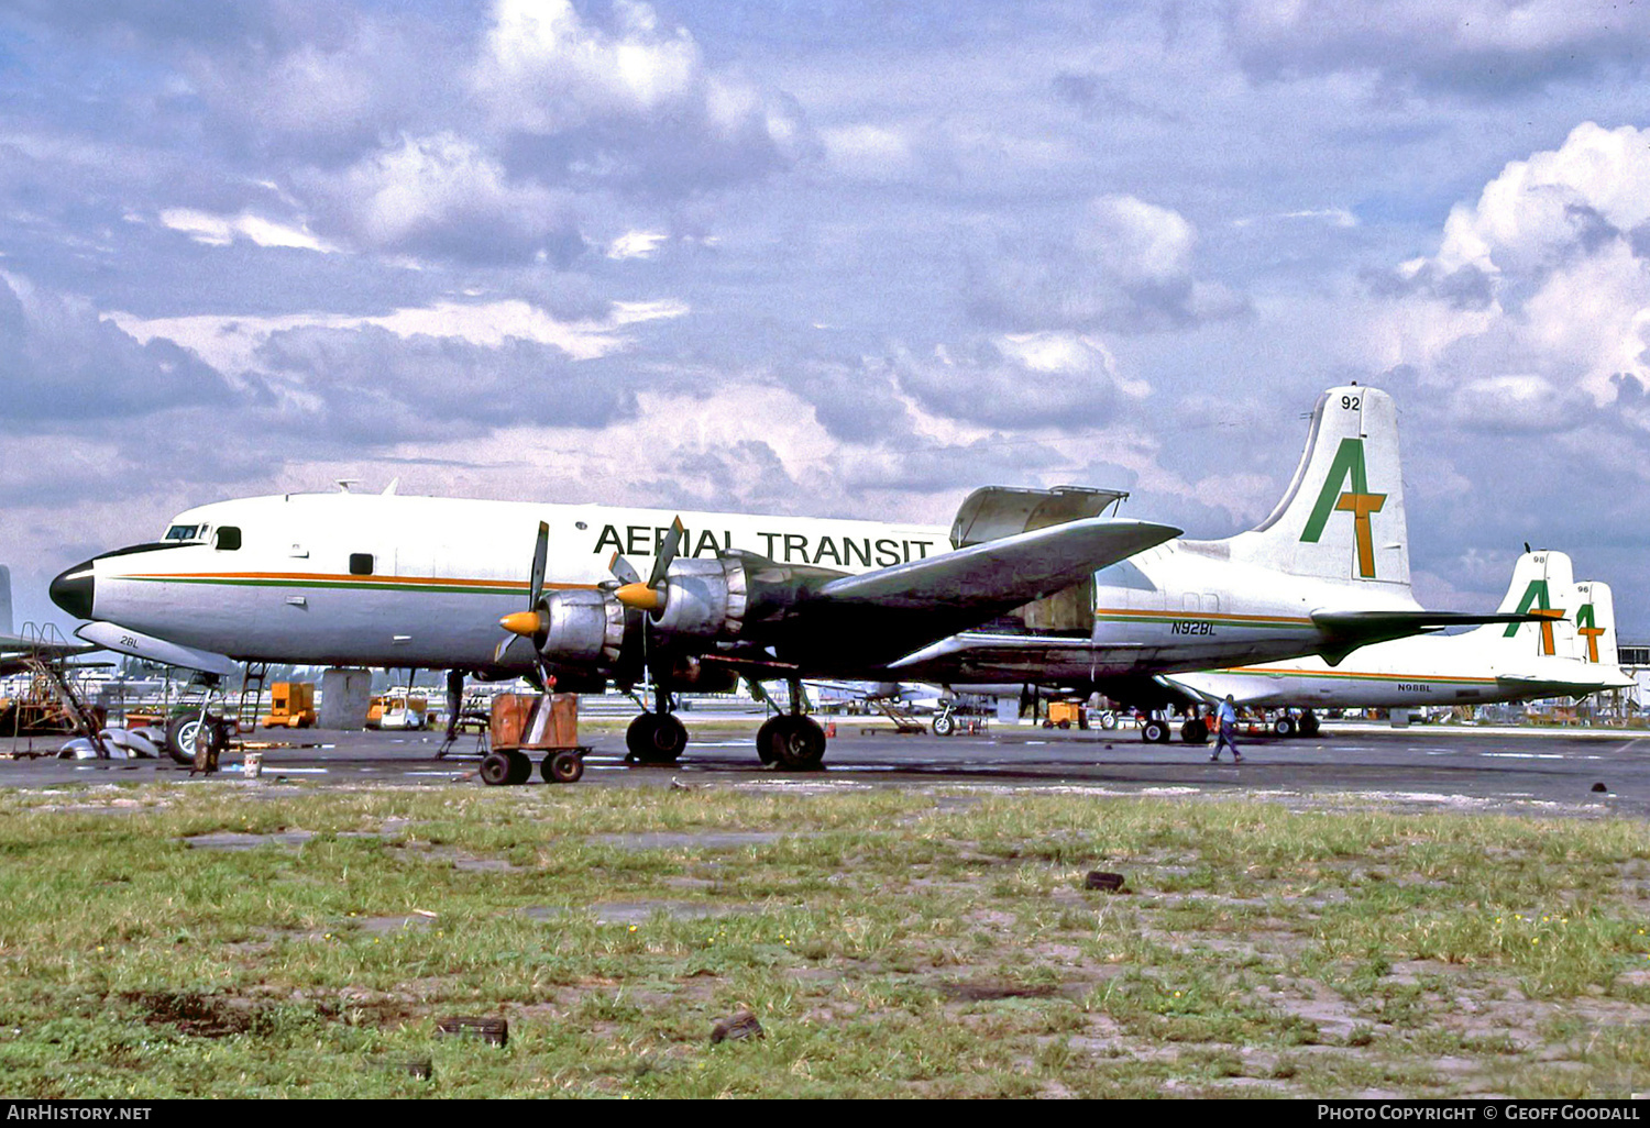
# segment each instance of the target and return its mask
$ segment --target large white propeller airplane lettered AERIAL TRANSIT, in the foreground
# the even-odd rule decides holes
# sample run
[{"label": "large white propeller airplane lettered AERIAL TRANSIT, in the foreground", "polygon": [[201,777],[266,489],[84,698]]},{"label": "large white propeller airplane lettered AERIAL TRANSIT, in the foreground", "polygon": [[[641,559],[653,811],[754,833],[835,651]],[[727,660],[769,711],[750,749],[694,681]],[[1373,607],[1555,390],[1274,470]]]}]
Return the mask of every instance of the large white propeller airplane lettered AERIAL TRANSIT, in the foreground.
[{"label": "large white propeller airplane lettered AERIAL TRANSIT, in the foreground", "polygon": [[[1167,699],[1155,676],[1168,671],[1335,661],[1422,630],[1528,618],[1426,612],[1411,597],[1396,412],[1376,389],[1318,399],[1287,495],[1249,533],[1165,544],[1178,529],[1097,516],[1122,496],[987,488],[949,536],[388,491],[248,498],[188,510],[157,544],[68,569],[51,597],[99,620],[78,632],[89,642],[200,670],[538,670],[576,691],[650,681],[655,712],[627,744],[653,762],[686,742],[673,693],[787,679],[792,714],[757,734],[762,760],[785,767],[813,767],[825,750],[797,712],[802,678]],[[648,556],[642,580],[630,559]]]}]

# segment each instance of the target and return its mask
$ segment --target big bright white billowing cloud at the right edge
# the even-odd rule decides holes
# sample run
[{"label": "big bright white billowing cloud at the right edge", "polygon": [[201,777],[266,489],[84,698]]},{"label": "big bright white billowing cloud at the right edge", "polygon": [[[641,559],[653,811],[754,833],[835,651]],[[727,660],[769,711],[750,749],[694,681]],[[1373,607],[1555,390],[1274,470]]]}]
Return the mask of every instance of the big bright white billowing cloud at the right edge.
[{"label": "big bright white billowing cloud at the right edge", "polygon": [[1371,348],[1424,381],[1497,378],[1485,391],[1650,379],[1650,130],[1577,125],[1558,150],[1510,162],[1450,209],[1436,254],[1373,287]]}]

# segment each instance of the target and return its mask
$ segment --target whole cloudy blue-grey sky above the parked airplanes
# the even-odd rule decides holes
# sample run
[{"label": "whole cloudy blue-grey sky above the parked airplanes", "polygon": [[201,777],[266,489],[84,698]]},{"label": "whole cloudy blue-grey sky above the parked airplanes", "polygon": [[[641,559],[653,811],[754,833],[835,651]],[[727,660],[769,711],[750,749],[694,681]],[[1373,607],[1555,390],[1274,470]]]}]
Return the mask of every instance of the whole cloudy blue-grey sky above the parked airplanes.
[{"label": "whole cloudy blue-grey sky above the parked airplanes", "polygon": [[1416,589],[1650,638],[1650,5],[0,0],[0,557],[330,488],[1226,536],[1332,384]]}]

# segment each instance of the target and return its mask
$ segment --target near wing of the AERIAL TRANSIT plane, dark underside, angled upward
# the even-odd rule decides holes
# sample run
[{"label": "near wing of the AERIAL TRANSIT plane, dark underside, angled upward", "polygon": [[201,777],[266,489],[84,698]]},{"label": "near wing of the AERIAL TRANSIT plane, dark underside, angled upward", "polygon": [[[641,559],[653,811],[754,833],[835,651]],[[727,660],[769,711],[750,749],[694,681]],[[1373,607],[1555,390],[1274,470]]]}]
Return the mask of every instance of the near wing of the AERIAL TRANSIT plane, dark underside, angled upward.
[{"label": "near wing of the AERIAL TRANSIT plane, dark underside, angled upward", "polygon": [[787,643],[860,666],[893,661],[1175,536],[1168,524],[1089,518],[827,579],[789,609]]}]

